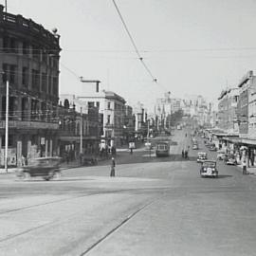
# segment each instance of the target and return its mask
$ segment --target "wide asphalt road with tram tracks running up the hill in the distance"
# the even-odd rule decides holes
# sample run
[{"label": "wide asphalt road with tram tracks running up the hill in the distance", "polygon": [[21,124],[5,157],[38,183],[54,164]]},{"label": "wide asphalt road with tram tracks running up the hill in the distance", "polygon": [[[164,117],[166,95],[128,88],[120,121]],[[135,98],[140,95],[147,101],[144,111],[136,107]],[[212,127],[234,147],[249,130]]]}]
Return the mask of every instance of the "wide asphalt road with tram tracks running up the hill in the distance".
[{"label": "wide asphalt road with tram tracks running up the hill in the distance", "polygon": [[119,153],[113,178],[107,161],[49,182],[2,174],[0,255],[255,255],[255,176],[218,162],[201,178],[185,133],[170,157]]}]

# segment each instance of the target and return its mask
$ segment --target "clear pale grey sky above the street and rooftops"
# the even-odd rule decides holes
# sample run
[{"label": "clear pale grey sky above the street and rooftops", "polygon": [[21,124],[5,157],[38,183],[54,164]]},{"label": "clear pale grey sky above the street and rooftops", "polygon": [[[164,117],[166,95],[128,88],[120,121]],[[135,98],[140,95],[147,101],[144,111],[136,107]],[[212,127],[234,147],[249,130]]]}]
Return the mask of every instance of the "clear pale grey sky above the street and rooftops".
[{"label": "clear pale grey sky above the street and rooftops", "polygon": [[58,28],[64,94],[86,95],[82,76],[153,110],[167,91],[217,102],[223,89],[236,87],[248,70],[256,71],[255,0],[116,3],[157,82],[138,60],[112,0],[8,0],[8,12]]}]

